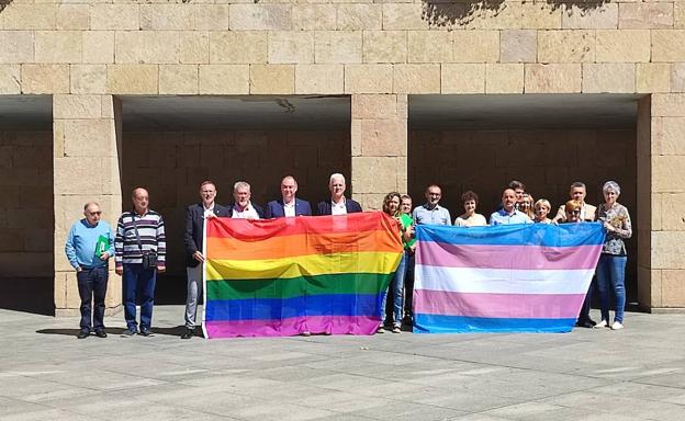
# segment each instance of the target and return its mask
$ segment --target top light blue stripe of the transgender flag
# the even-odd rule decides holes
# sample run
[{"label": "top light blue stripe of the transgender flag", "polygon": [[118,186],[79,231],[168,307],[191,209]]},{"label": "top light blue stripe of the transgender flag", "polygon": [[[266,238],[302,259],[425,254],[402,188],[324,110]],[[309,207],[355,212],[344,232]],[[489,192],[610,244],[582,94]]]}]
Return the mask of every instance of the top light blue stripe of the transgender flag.
[{"label": "top light blue stripe of the transgender flag", "polygon": [[600,223],[518,224],[493,227],[451,227],[418,225],[418,241],[480,246],[577,247],[604,243]]}]

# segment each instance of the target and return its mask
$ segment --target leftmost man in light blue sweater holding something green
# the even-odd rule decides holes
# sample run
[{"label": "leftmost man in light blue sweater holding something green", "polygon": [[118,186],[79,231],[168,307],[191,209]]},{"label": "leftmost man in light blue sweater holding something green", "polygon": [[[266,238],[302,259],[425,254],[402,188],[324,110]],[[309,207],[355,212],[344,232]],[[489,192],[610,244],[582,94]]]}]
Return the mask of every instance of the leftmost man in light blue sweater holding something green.
[{"label": "leftmost man in light blue sweater holding something green", "polygon": [[81,298],[81,330],[77,338],[90,337],[91,329],[96,330],[98,338],[106,338],[103,322],[104,297],[108,260],[114,255],[114,235],[110,225],[100,220],[102,210],[96,202],[88,202],[83,206],[83,216],[86,216],[83,219],[71,226],[65,244],[67,259],[76,270]]}]

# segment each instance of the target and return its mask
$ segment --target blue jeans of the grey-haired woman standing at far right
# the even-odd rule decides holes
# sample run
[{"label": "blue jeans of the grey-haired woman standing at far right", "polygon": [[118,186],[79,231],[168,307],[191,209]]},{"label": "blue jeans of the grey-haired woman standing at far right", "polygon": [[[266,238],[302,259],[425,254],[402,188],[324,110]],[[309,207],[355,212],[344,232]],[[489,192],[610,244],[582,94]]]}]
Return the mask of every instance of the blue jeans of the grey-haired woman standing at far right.
[{"label": "blue jeans of the grey-haired woman standing at far right", "polygon": [[616,314],[614,320],[624,322],[624,308],[626,307],[626,262],[627,255],[604,254],[599,255],[597,263],[597,289],[602,307],[602,320],[609,322],[609,287],[616,296]]}]

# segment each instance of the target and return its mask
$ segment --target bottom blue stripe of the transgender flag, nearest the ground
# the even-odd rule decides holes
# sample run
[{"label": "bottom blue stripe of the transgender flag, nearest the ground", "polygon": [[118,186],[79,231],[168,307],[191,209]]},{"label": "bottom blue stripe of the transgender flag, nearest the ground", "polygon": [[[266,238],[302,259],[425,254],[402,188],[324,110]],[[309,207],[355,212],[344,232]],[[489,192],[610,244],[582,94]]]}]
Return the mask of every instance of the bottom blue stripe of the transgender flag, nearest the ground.
[{"label": "bottom blue stripe of the transgender flag, nearest the ground", "polygon": [[414,315],[414,333],[565,333],[573,319],[497,319],[485,317]]}]

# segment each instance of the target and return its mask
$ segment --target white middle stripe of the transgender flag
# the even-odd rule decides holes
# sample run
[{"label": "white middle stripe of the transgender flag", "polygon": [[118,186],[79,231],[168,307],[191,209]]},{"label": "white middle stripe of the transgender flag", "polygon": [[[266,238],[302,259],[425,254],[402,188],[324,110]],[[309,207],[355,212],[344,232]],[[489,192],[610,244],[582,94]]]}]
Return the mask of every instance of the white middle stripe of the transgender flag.
[{"label": "white middle stripe of the transgender flag", "polygon": [[585,294],[594,269],[512,270],[416,265],[414,289],[490,294]]}]

